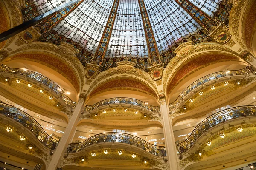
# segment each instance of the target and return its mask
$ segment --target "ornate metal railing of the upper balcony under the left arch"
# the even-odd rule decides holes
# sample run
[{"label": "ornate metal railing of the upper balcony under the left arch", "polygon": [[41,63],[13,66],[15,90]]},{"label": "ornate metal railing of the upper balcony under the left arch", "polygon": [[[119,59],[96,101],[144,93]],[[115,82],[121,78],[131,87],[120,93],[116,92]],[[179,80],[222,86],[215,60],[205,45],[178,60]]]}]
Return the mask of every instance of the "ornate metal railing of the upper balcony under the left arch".
[{"label": "ornate metal railing of the upper balcony under the left arch", "polygon": [[0,72],[2,73],[10,73],[10,74],[18,74],[25,77],[29,77],[31,79],[34,79],[37,82],[40,82],[50,89],[54,91],[60,98],[71,108],[74,108],[76,106],[76,102],[73,102],[67,94],[57,85],[55,82],[52,82],[47,77],[42,76],[39,73],[36,73],[34,71],[28,71],[20,68],[9,68],[5,65],[0,65]]}]

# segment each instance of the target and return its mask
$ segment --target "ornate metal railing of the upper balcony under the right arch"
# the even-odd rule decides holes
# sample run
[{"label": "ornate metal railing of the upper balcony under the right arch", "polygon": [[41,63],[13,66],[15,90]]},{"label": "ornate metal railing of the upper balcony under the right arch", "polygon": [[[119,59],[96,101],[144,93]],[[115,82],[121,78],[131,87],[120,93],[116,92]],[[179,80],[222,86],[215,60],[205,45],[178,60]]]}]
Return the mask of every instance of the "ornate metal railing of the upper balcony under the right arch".
[{"label": "ornate metal railing of the upper balcony under the right arch", "polygon": [[213,74],[208,74],[207,76],[196,80],[191,85],[189,85],[184,91],[182,91],[180,93],[180,96],[178,96],[178,98],[175,100],[175,102],[169,104],[169,109],[171,110],[177,107],[190,92],[192,92],[195,88],[198,88],[199,86],[204,85],[207,82],[219,79],[221,77],[228,77],[233,75],[246,75],[252,72],[253,71],[251,70],[251,68],[247,67],[241,70],[220,71]]}]

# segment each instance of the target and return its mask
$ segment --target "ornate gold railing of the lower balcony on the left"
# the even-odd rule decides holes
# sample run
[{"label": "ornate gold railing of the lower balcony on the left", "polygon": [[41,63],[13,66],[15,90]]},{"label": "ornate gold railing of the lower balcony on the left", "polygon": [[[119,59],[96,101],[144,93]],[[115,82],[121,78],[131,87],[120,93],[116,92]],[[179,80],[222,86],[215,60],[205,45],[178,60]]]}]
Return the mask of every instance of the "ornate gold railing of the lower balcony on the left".
[{"label": "ornate gold railing of the lower balcony on the left", "polygon": [[27,113],[21,110],[18,110],[17,113],[9,112],[9,108],[12,107],[13,106],[11,105],[6,105],[0,102],[0,114],[16,120],[24,127],[29,129],[42,144],[44,144],[46,147],[49,147],[52,150],[55,150],[58,141],[49,136],[41,127],[41,125]]}]

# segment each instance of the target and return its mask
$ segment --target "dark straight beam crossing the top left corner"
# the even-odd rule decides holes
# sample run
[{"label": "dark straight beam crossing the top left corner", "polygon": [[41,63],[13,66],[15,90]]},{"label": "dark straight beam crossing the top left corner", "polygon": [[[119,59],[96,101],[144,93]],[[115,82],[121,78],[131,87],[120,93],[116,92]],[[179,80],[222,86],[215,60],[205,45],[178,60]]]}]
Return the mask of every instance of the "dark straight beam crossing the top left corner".
[{"label": "dark straight beam crossing the top left corner", "polygon": [[59,6],[57,8],[54,8],[44,14],[39,15],[38,17],[33,18],[32,20],[29,20],[25,23],[22,23],[14,28],[11,28],[3,33],[0,34],[0,42],[3,42],[12,36],[15,36],[16,34],[19,34],[20,32],[26,30],[29,27],[35,26],[38,23],[41,23],[44,20],[47,20],[49,17],[54,15],[56,12],[59,12],[63,10],[64,8],[67,8],[70,5],[73,5],[74,3],[78,3],[80,0],[72,0],[69,3],[63,4],[62,6]]}]

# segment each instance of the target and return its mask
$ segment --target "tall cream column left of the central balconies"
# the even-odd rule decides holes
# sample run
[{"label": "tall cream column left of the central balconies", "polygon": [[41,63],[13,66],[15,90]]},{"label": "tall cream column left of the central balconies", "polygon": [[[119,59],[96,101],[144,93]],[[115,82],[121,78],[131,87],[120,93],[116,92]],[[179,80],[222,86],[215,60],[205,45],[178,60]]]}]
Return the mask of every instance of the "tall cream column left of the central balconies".
[{"label": "tall cream column left of the central balconies", "polygon": [[79,97],[79,101],[76,104],[73,115],[69,120],[67,127],[63,136],[61,137],[56,150],[53,153],[52,160],[49,163],[47,170],[56,170],[58,164],[64,156],[65,151],[67,150],[68,144],[71,143],[73,139],[73,135],[76,132],[76,126],[79,119],[79,115],[84,108],[85,94],[81,94]]}]

